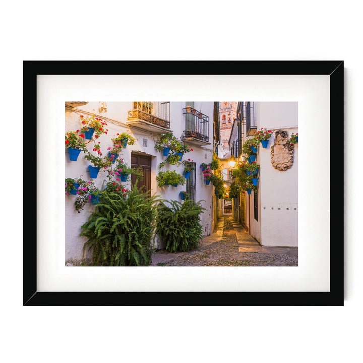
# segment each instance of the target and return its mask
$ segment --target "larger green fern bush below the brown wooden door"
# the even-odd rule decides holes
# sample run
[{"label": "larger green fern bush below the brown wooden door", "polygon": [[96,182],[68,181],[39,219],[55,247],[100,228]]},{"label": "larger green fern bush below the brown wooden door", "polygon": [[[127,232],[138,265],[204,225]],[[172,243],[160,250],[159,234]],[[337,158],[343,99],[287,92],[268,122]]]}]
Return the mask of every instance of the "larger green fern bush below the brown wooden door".
[{"label": "larger green fern bush below the brown wooden door", "polygon": [[110,189],[82,225],[84,249],[93,248],[94,266],[150,265],[158,197],[136,186],[123,195]]}]

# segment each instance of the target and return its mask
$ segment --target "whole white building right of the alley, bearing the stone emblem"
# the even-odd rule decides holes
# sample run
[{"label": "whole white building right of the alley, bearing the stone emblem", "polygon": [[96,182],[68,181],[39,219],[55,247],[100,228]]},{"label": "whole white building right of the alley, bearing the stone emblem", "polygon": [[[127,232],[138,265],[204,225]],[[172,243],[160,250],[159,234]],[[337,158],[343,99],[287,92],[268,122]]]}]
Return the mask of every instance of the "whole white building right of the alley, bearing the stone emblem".
[{"label": "whole white building right of the alley, bearing the stone emblem", "polygon": [[261,128],[273,131],[267,147],[260,144],[257,152],[256,162],[260,164],[258,192],[248,195],[243,191],[233,198],[234,218],[263,246],[298,245],[298,143],[289,146],[287,167],[278,168],[274,162],[280,147],[274,145],[276,132],[284,132],[281,135],[289,139],[292,133],[298,133],[297,125],[297,102],[238,103],[229,141],[234,157],[243,159],[241,146],[254,131]]}]

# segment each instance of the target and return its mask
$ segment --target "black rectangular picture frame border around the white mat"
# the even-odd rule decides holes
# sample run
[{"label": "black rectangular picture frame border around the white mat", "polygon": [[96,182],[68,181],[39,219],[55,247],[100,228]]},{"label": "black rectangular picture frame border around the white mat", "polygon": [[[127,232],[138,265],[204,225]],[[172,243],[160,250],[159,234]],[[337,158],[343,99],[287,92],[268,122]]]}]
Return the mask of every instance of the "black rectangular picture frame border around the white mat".
[{"label": "black rectangular picture frame border around the white mat", "polygon": [[[95,73],[97,70],[97,73]],[[148,70],[148,73],[140,73]],[[330,130],[339,125],[343,138],[343,61],[24,61],[23,125],[26,139],[36,140],[37,75],[329,75]],[[125,71],[125,72],[124,72]],[[122,73],[120,73],[122,72]],[[330,134],[330,145],[333,145]],[[37,194],[27,194],[29,180],[36,184],[36,153],[24,138],[24,306],[343,306],[344,233],[343,176],[330,176],[330,291],[328,292],[39,292],[37,291]],[[32,141],[34,149],[35,142]],[[332,151],[331,151],[332,152]],[[332,161],[343,165],[343,152]],[[36,185],[32,189],[36,191]],[[334,199],[332,198],[334,193]],[[29,206],[32,206],[31,208]]]}]

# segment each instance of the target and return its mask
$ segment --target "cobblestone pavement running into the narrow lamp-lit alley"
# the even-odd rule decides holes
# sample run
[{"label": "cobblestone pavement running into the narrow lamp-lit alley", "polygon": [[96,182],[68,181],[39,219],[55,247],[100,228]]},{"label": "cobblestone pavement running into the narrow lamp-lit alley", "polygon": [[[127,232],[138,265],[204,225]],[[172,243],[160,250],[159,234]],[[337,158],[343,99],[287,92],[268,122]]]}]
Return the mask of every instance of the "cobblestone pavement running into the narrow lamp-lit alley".
[{"label": "cobblestone pavement running into the narrow lamp-lit alley", "polygon": [[222,217],[198,250],[152,256],[151,266],[297,266],[297,248],[262,247],[232,217]]}]

